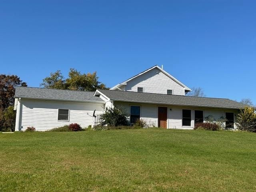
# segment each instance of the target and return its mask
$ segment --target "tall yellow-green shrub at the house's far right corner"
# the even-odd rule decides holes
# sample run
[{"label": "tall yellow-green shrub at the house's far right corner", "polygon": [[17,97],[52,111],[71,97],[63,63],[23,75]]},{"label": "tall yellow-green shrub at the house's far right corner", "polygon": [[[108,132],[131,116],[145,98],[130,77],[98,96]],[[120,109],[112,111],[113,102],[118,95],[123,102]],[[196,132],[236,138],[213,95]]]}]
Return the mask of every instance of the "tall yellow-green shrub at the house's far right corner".
[{"label": "tall yellow-green shrub at the house's far right corner", "polygon": [[246,106],[236,116],[236,126],[239,130],[256,132],[256,114],[254,108]]}]

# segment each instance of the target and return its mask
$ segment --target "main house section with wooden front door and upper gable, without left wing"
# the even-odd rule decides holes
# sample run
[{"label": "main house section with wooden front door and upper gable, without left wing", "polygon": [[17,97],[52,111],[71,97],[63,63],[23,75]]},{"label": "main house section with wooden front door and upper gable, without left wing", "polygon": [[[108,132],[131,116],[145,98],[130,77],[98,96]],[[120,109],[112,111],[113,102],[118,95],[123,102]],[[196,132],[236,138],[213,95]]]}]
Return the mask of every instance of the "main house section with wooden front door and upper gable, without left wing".
[{"label": "main house section with wooden front door and upper gable, without left wing", "polygon": [[227,121],[224,128],[235,128],[235,115],[244,105],[229,99],[185,96],[188,86],[159,66],[153,66],[110,90],[96,90],[104,96],[105,107],[122,107],[133,124],[138,119],[150,126],[193,129],[206,121]]}]

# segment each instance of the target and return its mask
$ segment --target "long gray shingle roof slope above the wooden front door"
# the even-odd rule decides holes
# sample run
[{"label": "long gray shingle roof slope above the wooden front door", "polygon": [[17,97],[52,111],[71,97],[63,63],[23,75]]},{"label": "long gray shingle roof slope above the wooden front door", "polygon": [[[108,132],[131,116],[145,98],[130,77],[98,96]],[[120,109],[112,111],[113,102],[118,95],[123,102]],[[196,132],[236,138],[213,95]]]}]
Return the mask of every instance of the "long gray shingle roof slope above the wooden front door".
[{"label": "long gray shingle roof slope above the wooden front door", "polygon": [[154,93],[138,93],[117,90],[99,90],[102,94],[116,101],[151,102],[170,105],[203,106],[216,108],[244,108],[244,104],[221,98],[190,97]]}]

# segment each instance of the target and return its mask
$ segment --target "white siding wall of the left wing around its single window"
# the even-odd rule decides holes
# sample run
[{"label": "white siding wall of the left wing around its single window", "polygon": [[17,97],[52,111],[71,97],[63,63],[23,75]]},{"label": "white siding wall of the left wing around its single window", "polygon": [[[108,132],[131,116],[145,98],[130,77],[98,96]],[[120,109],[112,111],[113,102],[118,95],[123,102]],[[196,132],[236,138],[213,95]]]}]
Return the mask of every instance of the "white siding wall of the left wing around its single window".
[{"label": "white siding wall of the left wing around its single window", "polygon": [[[101,114],[104,104],[22,99],[20,108],[23,131],[29,126],[34,126],[36,131],[46,131],[71,123],[82,128],[94,125],[93,111],[96,110],[96,115]],[[69,121],[58,121],[58,109],[69,109]]]}]

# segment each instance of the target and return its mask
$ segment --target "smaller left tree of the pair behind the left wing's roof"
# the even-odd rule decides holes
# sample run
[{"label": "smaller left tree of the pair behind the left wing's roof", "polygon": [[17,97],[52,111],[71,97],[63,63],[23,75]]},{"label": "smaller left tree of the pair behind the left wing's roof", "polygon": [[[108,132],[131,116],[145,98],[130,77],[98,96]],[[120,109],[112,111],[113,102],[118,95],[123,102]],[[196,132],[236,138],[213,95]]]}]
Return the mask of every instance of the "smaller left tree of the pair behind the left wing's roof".
[{"label": "smaller left tree of the pair behind the left wing's roof", "polygon": [[66,89],[66,80],[64,76],[57,70],[54,73],[50,73],[49,77],[43,79],[43,82],[40,84],[43,88],[50,88],[50,89]]}]

